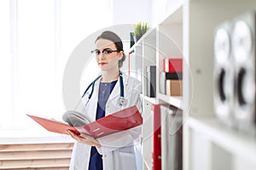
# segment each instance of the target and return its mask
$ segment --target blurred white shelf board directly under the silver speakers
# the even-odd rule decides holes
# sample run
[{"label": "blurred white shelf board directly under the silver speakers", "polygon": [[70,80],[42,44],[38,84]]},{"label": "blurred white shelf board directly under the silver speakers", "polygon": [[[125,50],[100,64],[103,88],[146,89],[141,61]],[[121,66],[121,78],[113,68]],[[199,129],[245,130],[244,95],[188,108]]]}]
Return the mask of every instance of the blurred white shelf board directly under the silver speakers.
[{"label": "blurred white shelf board directly under the silver speakers", "polygon": [[189,117],[185,122],[192,131],[201,133],[214,144],[228,150],[234,156],[256,162],[256,138],[224,126],[215,117]]}]

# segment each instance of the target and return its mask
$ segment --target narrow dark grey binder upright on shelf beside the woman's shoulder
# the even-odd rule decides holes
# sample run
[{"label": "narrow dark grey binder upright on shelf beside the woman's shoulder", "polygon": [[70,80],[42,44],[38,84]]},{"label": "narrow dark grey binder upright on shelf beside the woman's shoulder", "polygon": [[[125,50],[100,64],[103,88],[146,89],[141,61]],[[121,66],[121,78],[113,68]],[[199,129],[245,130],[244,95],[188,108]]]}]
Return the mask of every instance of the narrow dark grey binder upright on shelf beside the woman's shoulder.
[{"label": "narrow dark grey binder upright on shelf beside the woman's shoulder", "polygon": [[156,92],[156,66],[149,65],[146,67],[147,71],[147,96],[155,97]]}]

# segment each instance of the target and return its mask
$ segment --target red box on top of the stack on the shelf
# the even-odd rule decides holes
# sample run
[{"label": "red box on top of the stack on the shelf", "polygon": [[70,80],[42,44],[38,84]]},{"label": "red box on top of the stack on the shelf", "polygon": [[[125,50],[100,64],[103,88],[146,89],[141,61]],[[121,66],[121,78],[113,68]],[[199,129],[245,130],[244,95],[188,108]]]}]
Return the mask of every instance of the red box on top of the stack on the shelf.
[{"label": "red box on top of the stack on the shelf", "polygon": [[164,59],[164,71],[165,72],[182,72],[183,71],[183,59]]}]

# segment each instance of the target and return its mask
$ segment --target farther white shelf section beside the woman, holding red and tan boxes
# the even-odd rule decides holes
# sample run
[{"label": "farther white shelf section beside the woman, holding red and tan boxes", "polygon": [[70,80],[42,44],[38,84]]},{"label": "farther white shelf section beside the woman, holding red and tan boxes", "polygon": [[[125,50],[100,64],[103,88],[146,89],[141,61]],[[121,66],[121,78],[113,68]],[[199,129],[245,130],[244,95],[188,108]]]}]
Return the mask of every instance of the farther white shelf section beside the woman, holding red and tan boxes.
[{"label": "farther white shelf section beside the woman, holding red and tan boxes", "polygon": [[[159,92],[159,74],[163,71],[164,58],[182,58],[183,50],[183,1],[168,7],[170,10],[162,15],[159,24],[151,28],[143,37],[134,44],[129,52],[136,56],[136,70],[138,78],[143,83],[143,169],[152,169],[153,150],[153,114],[152,105],[169,104],[183,109],[182,97],[168,96]],[[169,3],[171,5],[171,3]],[[171,12],[171,13],[170,13]],[[168,45],[167,45],[168,44]],[[142,66],[138,63],[142,62]],[[156,96],[147,96],[147,71],[148,65],[156,65]],[[141,68],[143,70],[141,71]]]}]

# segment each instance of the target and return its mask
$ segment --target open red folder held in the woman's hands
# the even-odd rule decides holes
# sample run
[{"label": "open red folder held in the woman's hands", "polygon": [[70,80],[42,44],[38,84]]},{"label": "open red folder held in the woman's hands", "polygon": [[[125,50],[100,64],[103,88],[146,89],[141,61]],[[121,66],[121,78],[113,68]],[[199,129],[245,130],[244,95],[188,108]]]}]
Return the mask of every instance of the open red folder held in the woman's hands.
[{"label": "open red folder held in the woman's hands", "polygon": [[94,138],[100,138],[110,133],[127,130],[143,124],[143,117],[137,110],[136,105],[117,111],[111,115],[104,116],[95,122],[90,122],[81,127],[71,127],[65,123],[56,122],[43,117],[27,116],[30,116],[35,122],[38,122],[38,124],[50,132],[67,134],[67,130],[71,130],[78,135],[80,133],[85,133]]}]

